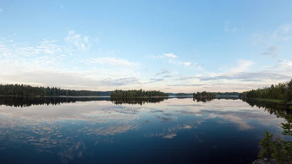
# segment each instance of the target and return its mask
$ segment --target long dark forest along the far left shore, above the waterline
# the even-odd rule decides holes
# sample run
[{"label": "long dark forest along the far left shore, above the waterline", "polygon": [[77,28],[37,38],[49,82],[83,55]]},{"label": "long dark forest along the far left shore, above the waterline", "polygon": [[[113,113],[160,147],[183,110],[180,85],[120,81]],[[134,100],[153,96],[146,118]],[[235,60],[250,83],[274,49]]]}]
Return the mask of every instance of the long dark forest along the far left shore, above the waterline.
[{"label": "long dark forest along the far left shore, above the waterline", "polygon": [[64,90],[57,87],[33,87],[23,84],[0,84],[0,95],[9,96],[110,96],[110,92]]}]

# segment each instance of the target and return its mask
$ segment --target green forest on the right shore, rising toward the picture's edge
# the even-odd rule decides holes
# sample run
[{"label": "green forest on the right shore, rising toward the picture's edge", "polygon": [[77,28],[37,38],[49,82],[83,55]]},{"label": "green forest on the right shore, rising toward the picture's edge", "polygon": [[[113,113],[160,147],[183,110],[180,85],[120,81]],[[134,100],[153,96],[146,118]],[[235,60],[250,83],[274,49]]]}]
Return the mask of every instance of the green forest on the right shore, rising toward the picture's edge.
[{"label": "green forest on the right shore, rising toward the picture's edge", "polygon": [[271,85],[271,87],[264,87],[263,89],[256,89],[251,91],[244,91],[239,95],[244,99],[277,99],[285,102],[292,100],[292,79],[290,82],[279,83],[278,85]]}]

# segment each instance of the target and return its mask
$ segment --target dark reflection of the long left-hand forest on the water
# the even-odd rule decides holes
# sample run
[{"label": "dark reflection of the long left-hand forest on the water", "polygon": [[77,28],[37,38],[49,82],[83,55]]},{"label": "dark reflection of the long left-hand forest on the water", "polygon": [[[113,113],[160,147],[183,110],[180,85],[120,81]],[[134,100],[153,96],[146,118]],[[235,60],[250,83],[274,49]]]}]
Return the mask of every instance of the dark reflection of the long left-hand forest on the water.
[{"label": "dark reflection of the long left-hand forest on the water", "polygon": [[37,105],[60,105],[63,103],[110,101],[110,97],[19,97],[0,96],[0,106],[30,107]]}]

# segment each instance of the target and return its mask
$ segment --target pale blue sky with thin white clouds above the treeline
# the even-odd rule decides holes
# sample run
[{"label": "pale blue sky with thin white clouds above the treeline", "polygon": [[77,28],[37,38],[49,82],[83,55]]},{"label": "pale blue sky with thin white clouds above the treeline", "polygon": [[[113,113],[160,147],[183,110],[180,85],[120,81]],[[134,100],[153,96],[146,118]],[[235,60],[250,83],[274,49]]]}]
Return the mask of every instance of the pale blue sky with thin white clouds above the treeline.
[{"label": "pale blue sky with thin white clouds above the treeline", "polygon": [[292,0],[1,0],[0,83],[246,91],[292,79]]}]

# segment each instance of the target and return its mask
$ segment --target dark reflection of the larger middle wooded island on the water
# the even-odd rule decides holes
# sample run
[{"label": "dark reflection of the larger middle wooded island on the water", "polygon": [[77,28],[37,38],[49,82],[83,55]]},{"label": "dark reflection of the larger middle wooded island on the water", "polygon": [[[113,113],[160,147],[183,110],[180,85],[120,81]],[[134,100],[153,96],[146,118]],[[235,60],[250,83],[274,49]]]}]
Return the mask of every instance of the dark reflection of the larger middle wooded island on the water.
[{"label": "dark reflection of the larger middle wooded island on the water", "polygon": [[147,97],[110,97],[110,101],[115,105],[122,104],[140,104],[145,103],[160,103],[164,100],[167,100],[167,97],[158,97],[158,98],[147,98]]}]

